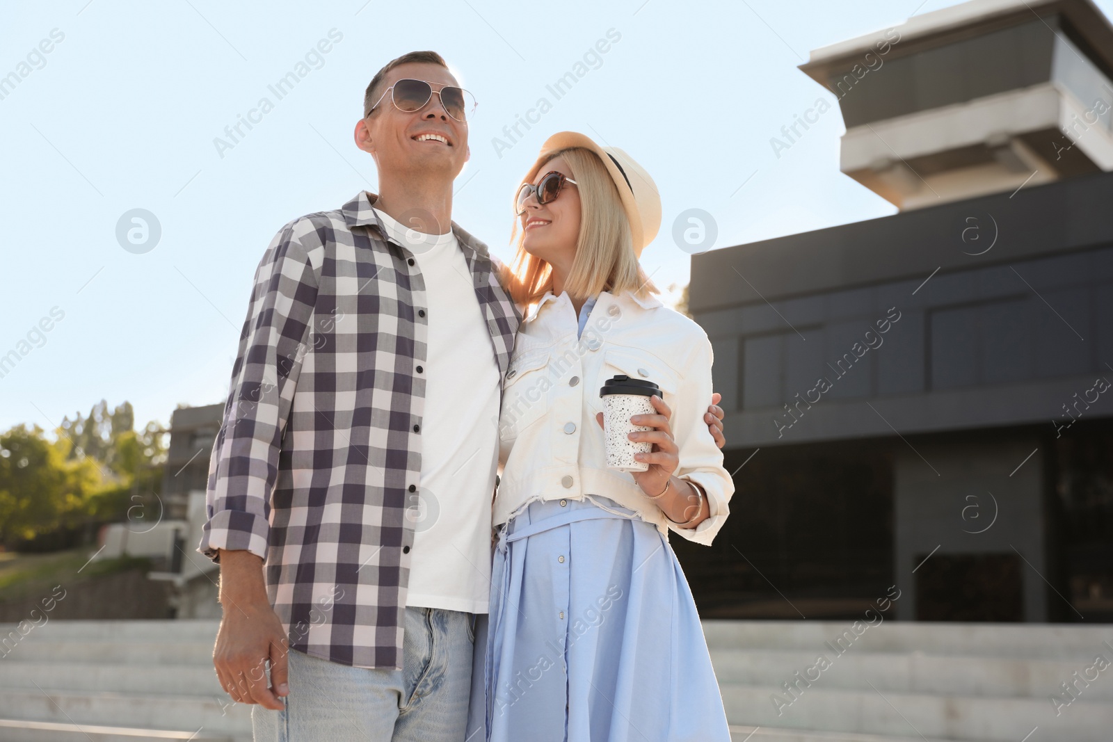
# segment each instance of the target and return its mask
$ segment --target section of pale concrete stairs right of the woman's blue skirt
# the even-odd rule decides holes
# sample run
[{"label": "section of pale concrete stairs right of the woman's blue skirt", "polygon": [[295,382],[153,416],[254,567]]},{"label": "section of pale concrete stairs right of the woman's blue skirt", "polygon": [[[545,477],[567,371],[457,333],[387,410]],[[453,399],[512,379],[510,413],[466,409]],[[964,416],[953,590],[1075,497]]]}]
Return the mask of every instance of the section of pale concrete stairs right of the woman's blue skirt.
[{"label": "section of pale concrete stairs right of the woman's blue skirt", "polygon": [[703,622],[735,742],[1113,740],[1113,625],[853,623]]}]

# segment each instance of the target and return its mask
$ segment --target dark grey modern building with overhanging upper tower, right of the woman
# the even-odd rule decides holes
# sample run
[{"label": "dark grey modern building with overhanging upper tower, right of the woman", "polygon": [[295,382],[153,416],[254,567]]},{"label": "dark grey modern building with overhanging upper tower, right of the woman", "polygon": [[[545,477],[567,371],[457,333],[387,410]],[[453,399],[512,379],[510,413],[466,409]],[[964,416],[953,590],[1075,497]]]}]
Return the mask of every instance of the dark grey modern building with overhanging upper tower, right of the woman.
[{"label": "dark grey modern building with overhanging upper tower, right of the woman", "polygon": [[902,620],[1113,621],[1113,28],[948,13],[801,67],[899,214],[692,258],[737,469],[716,544],[676,544],[705,617],[896,584]]}]

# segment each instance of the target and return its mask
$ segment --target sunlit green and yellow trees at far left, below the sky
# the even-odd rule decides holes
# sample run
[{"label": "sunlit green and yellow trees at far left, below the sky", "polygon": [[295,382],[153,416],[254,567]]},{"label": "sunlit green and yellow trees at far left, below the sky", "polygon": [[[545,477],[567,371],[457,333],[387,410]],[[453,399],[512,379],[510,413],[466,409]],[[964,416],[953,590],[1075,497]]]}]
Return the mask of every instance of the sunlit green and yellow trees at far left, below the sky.
[{"label": "sunlit green and yellow trees at far left, below the sky", "polygon": [[135,495],[157,492],[166,459],[157,423],[136,432],[131,405],[105,400],[47,439],[38,426],[0,433],[0,543],[119,521]]}]

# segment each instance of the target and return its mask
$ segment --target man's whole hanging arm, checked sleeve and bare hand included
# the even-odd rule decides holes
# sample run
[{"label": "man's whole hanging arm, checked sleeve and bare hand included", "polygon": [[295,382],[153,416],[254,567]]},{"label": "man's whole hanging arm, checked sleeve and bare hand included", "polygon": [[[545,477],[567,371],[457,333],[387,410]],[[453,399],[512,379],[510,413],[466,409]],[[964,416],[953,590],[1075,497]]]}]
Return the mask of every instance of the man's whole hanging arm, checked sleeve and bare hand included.
[{"label": "man's whole hanging arm, checked sleeve and bare hand included", "polygon": [[[275,236],[255,287],[233,367],[225,419],[209,464],[203,554],[220,563],[224,619],[213,663],[242,703],[282,709],[287,636],[263,575],[278,454],[313,321],[317,279],[305,243],[319,247],[312,221]],[[319,256],[317,259],[319,265]],[[267,662],[272,687],[267,687]]]}]

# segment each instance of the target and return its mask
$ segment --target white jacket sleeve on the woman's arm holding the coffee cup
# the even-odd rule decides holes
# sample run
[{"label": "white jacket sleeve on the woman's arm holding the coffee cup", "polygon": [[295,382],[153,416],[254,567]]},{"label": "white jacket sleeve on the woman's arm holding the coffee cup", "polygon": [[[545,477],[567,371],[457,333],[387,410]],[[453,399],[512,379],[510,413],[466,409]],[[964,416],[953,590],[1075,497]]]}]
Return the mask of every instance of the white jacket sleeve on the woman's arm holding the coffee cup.
[{"label": "white jacket sleeve on the woman's arm holding the coffee cup", "polygon": [[[735,483],[722,466],[722,452],[703,422],[703,410],[711,400],[711,343],[700,338],[697,350],[687,364],[689,369],[677,389],[679,413],[673,417],[673,439],[679,448],[680,466],[673,474],[699,485],[707,494],[710,515],[695,528],[681,528],[672,522],[671,531],[688,541],[710,546],[719,528],[730,515],[730,497]],[[682,416],[682,418],[681,418]]]}]

